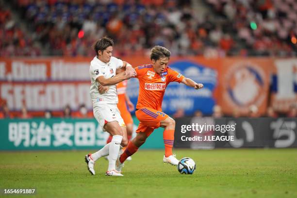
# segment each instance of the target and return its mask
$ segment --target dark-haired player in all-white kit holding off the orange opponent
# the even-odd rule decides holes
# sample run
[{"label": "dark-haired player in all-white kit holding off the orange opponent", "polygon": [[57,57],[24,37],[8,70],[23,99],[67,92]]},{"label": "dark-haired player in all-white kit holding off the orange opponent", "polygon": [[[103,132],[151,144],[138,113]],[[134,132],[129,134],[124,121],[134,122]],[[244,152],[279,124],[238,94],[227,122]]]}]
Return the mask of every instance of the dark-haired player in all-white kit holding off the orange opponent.
[{"label": "dark-haired player in all-white kit holding off the orange opponent", "polygon": [[[94,44],[97,56],[91,61],[90,76],[91,88],[90,95],[93,100],[94,116],[99,122],[103,131],[109,132],[112,141],[93,154],[85,156],[88,170],[95,175],[94,164],[100,158],[109,155],[107,176],[123,176],[115,170],[115,161],[119,150],[128,144],[125,123],[117,109],[116,84],[136,76],[132,66],[120,59],[112,56],[113,40],[108,37],[99,39]],[[116,75],[120,69],[125,70],[125,74]],[[108,90],[100,93],[98,87],[109,86]]]}]

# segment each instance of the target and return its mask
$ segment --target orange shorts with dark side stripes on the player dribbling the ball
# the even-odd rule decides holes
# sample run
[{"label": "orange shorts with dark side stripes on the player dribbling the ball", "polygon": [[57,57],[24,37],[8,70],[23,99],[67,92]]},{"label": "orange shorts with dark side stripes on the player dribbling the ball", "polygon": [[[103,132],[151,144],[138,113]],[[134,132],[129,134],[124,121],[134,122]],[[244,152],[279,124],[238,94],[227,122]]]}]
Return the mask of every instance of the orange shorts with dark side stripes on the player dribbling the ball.
[{"label": "orange shorts with dark side stripes on the player dribbling the ball", "polygon": [[152,108],[142,108],[135,112],[137,119],[140,121],[136,132],[145,132],[149,136],[154,129],[160,127],[162,120],[165,120],[168,115]]}]

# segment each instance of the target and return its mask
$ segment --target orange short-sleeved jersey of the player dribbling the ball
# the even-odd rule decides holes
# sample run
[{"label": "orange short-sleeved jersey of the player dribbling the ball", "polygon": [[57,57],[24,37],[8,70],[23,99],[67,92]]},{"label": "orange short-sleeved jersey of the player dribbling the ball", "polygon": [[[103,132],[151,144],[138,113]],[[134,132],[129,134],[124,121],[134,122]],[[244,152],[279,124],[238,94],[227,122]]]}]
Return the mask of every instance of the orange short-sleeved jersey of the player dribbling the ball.
[{"label": "orange short-sleeved jersey of the player dribbling the ball", "polygon": [[152,65],[135,68],[136,78],[139,80],[139,95],[136,109],[149,107],[162,111],[162,101],[165,88],[170,82],[181,82],[184,78],[170,67],[165,68],[161,74],[154,72]]}]

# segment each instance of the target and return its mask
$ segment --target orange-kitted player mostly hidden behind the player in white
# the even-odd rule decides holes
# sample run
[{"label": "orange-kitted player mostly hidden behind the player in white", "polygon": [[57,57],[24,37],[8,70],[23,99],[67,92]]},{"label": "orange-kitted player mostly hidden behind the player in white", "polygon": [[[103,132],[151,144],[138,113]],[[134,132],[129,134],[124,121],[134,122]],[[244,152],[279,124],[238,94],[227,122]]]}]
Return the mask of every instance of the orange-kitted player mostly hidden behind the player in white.
[{"label": "orange-kitted player mostly hidden behind the player in white", "polygon": [[[133,119],[130,112],[134,110],[134,105],[130,101],[128,95],[126,94],[127,84],[128,84],[128,80],[119,82],[118,84],[116,84],[116,89],[117,89],[117,98],[118,98],[117,108],[120,111],[121,117],[123,118],[124,123],[126,125],[127,138],[129,142],[131,140],[132,132],[133,132]],[[104,91],[105,90],[106,89],[104,89]],[[110,143],[112,138],[113,136],[109,135],[106,141],[106,144]],[[131,157],[127,158],[127,160],[131,160]]]}]

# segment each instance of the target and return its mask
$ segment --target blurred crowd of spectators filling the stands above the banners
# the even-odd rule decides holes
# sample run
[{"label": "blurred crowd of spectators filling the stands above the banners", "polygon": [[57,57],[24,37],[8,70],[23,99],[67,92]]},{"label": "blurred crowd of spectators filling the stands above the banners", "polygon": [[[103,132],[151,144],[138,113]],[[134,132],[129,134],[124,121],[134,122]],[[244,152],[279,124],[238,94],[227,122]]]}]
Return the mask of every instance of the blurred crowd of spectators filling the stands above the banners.
[{"label": "blurred crowd of spectators filling the stands above the banners", "polygon": [[[93,56],[90,46],[103,35],[115,39],[115,56],[144,55],[154,45],[172,55],[297,55],[294,0],[204,0],[212,11],[204,17],[191,0],[5,2],[0,56]],[[20,21],[11,17],[16,9]]]}]

